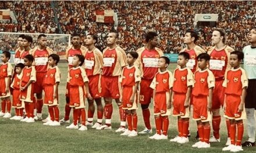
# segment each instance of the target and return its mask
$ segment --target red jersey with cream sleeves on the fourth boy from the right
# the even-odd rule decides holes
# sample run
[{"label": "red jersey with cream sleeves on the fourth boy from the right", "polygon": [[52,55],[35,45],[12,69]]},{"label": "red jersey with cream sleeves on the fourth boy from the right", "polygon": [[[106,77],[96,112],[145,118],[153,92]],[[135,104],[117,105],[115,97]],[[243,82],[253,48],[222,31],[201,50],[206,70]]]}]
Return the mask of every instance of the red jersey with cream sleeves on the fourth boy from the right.
[{"label": "red jersey with cream sleeves on the fourth boy from the right", "polygon": [[156,93],[169,92],[172,88],[173,78],[172,72],[166,70],[164,72],[157,72],[153,81],[151,82],[150,88],[154,89]]}]

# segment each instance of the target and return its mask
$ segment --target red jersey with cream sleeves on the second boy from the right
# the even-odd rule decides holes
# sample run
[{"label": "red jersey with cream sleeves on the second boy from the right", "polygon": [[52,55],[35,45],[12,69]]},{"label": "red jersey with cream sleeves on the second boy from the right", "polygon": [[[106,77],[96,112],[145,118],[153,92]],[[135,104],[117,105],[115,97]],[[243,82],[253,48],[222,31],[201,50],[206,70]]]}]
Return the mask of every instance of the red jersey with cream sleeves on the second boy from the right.
[{"label": "red jersey with cream sleeves on the second boy from the right", "polygon": [[203,71],[197,70],[194,74],[194,82],[192,94],[194,96],[208,96],[209,89],[215,86],[214,74],[208,68]]}]

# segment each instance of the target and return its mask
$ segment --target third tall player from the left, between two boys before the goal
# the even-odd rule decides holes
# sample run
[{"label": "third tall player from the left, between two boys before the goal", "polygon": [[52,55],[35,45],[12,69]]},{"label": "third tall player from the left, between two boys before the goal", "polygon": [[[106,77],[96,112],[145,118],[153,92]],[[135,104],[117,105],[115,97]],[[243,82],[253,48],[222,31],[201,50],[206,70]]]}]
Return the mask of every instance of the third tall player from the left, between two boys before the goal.
[{"label": "third tall player from the left, between two boys before the goal", "polygon": [[35,102],[37,104],[37,116],[35,116],[35,119],[42,120],[42,105],[44,104],[42,100],[42,81],[47,73],[48,56],[54,53],[54,50],[47,46],[47,35],[38,35],[37,41],[38,45],[31,52],[35,60],[35,71],[37,72],[37,82],[34,84],[34,93],[37,96],[37,102]]}]

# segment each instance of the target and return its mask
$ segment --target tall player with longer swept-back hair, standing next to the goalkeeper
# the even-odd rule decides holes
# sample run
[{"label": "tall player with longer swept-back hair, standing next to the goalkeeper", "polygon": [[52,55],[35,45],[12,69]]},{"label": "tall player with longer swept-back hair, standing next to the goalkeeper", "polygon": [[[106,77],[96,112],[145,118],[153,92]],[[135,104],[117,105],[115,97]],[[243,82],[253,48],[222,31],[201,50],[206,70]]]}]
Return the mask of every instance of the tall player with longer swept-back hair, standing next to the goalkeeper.
[{"label": "tall player with longer swept-back hair, standing next to the goalkeeper", "polygon": [[[224,75],[227,70],[230,69],[230,52],[234,49],[230,46],[225,45],[226,34],[222,29],[216,29],[212,32],[212,44],[214,47],[209,49],[208,54],[211,56],[209,61],[209,69],[214,73],[215,76],[215,88],[213,92],[212,99],[212,129],[214,130],[214,136],[209,140],[211,143],[220,142],[219,128],[221,123],[221,115],[219,114],[221,106],[224,103],[225,88],[223,88],[222,83],[224,81]],[[227,125],[227,143],[229,145],[229,120],[226,120]]]}]

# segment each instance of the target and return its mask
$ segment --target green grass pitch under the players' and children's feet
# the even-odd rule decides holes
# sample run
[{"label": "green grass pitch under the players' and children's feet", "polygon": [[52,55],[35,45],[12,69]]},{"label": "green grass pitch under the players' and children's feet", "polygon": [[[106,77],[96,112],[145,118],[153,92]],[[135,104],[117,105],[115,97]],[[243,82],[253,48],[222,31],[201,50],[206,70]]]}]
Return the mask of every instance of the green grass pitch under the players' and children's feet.
[{"label": "green grass pitch under the players' and children's feet", "polygon": [[[169,66],[173,72],[176,64]],[[59,64],[61,69],[61,85],[59,86],[61,118],[65,112],[65,88],[67,66]],[[153,105],[151,104],[151,114]],[[14,111],[12,111],[13,114]],[[138,109],[138,131],[144,129],[141,109]],[[43,108],[44,118],[47,116],[47,107]],[[71,116],[71,115],[70,115]],[[94,119],[97,118],[95,113]],[[177,134],[177,120],[169,117],[169,139]],[[222,151],[226,143],[226,123],[221,122],[221,143],[212,143],[209,149],[192,148],[196,142],[194,139],[197,126],[195,121],[190,120],[191,137],[187,144],[170,143],[169,140],[150,140],[148,135],[139,134],[137,137],[129,138],[115,133],[119,127],[118,107],[114,103],[112,116],[112,130],[94,130],[88,128],[85,132],[79,130],[65,129],[68,124],[51,127],[44,126],[42,122],[22,123],[0,118],[0,152],[218,152]],[[153,115],[151,125],[155,130]],[[246,123],[244,123],[246,125]],[[247,130],[244,128],[244,140],[247,139]],[[246,152],[255,152],[255,148],[244,148]]]}]

